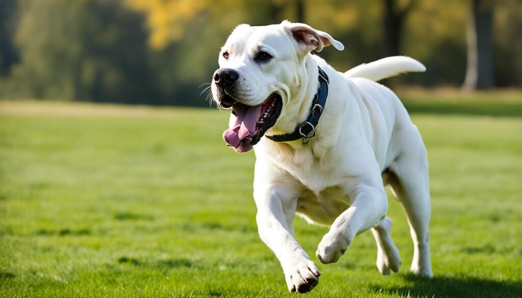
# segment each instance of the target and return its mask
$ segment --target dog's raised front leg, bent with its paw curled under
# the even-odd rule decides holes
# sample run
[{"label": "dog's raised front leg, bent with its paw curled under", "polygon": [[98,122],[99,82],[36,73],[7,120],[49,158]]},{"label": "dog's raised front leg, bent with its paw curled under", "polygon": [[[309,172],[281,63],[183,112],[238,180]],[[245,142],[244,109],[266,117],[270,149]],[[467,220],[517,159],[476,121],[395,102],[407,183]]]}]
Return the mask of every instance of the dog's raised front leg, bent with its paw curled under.
[{"label": "dog's raised front leg, bent with its paw curled under", "polygon": [[323,264],[339,260],[355,235],[372,228],[377,221],[384,218],[388,209],[388,199],[382,184],[378,187],[375,183],[349,183],[347,192],[351,198],[355,198],[353,203],[337,217],[315,253]]}]

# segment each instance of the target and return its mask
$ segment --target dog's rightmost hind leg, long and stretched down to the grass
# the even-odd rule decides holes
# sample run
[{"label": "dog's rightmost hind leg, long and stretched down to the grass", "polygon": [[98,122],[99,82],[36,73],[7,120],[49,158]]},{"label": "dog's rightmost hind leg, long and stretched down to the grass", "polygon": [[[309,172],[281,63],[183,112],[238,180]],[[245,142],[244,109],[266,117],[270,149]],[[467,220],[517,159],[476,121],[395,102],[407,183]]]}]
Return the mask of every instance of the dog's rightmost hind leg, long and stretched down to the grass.
[{"label": "dog's rightmost hind leg, long and stretched down to the grass", "polygon": [[[422,145],[422,141],[420,144]],[[432,277],[428,232],[431,198],[428,160],[424,146],[418,146],[417,150],[402,154],[389,170],[392,172],[390,186],[404,206],[410,225],[414,249],[411,271],[421,276]]]}]

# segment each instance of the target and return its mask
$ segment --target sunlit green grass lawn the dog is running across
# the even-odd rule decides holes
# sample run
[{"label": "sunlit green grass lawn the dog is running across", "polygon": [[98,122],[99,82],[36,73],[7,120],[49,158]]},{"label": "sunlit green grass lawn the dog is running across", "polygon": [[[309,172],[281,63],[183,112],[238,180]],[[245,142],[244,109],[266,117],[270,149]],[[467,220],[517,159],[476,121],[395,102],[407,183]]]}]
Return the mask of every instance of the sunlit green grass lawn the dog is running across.
[{"label": "sunlit green grass lawn the dog is running across", "polygon": [[[389,277],[371,233],[323,265],[327,229],[296,219],[323,272],[307,296],[522,296],[522,115],[430,104],[412,118],[429,152],[435,277],[408,273],[406,217],[390,199],[402,267]],[[254,154],[224,145],[227,122],[212,110],[0,103],[0,296],[292,296],[257,235]]]}]

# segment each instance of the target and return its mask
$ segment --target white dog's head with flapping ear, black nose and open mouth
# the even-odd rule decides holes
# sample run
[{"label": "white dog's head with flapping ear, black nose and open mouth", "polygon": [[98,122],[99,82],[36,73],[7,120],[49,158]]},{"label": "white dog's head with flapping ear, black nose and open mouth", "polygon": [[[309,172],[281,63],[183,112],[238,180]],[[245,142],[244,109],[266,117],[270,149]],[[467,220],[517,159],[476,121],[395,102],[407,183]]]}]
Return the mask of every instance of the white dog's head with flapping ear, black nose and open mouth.
[{"label": "white dog's head with flapping ear, black nose and open mouth", "polygon": [[342,43],[330,34],[303,23],[240,25],[232,31],[219,53],[219,69],[213,75],[212,95],[221,108],[231,109],[230,128],[224,140],[235,151],[245,152],[278,123],[298,94],[306,75],[305,57]]}]

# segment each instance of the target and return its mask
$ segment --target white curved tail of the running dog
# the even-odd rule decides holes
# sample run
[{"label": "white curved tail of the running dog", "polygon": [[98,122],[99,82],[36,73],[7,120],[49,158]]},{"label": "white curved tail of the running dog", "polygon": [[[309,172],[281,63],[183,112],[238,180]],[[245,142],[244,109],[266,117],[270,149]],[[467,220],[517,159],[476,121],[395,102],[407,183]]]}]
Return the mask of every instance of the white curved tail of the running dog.
[{"label": "white curved tail of the running dog", "polygon": [[406,56],[393,56],[361,64],[344,73],[345,78],[366,78],[380,81],[402,73],[426,71],[426,67],[416,59]]}]

